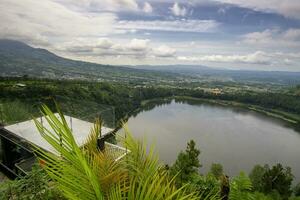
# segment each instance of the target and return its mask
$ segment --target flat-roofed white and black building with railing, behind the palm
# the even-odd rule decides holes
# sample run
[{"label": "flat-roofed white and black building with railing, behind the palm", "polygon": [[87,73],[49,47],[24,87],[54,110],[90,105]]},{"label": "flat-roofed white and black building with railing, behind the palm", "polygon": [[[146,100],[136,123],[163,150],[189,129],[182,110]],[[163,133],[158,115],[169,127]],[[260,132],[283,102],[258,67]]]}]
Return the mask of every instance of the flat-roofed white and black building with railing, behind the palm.
[{"label": "flat-roofed white and black building with railing, behind the palm", "polygon": [[[58,114],[55,115],[59,118]],[[80,147],[83,146],[94,124],[66,115],[64,117],[73,133],[76,143]],[[37,120],[39,120],[46,129],[49,131],[52,130],[45,117],[39,117]],[[126,148],[105,142],[106,137],[103,136],[112,131],[114,130],[107,127],[101,128],[102,137],[99,138],[98,148],[108,153],[115,161],[118,161],[130,151]],[[109,137],[109,135],[107,136]],[[0,128],[0,166],[5,170],[7,175],[15,178],[31,171],[32,166],[36,164],[32,146],[38,146],[60,156],[59,152],[41,136],[34,120]]]}]

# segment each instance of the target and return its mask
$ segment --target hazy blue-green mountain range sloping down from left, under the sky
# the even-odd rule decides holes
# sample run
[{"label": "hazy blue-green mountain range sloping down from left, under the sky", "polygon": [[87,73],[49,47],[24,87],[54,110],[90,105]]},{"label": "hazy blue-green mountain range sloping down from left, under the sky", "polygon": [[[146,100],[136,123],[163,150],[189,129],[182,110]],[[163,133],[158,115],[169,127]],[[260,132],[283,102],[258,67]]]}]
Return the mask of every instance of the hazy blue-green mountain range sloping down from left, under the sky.
[{"label": "hazy blue-green mountain range sloping down from left, under the sky", "polygon": [[216,69],[201,65],[112,66],[75,61],[14,40],[0,40],[0,76],[31,76],[122,82],[225,80],[300,84],[300,72]]}]

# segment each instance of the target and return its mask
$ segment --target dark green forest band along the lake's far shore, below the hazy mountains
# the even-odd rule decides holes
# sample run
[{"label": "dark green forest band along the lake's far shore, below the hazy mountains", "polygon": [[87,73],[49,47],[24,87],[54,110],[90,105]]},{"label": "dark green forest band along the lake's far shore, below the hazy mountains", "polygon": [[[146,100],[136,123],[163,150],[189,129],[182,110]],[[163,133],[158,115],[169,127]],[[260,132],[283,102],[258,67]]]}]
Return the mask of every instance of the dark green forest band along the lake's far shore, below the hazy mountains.
[{"label": "dark green forest band along the lake's far shore, below the hazy mountains", "polygon": [[[18,86],[18,84],[24,86]],[[298,89],[297,89],[298,88]],[[1,78],[0,101],[11,102],[43,102],[55,96],[63,96],[72,100],[86,100],[97,104],[112,106],[115,119],[119,121],[140,108],[143,101],[166,97],[193,97],[206,100],[238,102],[240,106],[259,106],[270,112],[287,116],[300,121],[299,86],[286,90],[285,93],[275,92],[224,92],[213,94],[204,90],[166,88],[111,82],[66,81],[32,78]],[[5,105],[5,104],[4,104]],[[246,105],[246,106],[245,106]]]}]

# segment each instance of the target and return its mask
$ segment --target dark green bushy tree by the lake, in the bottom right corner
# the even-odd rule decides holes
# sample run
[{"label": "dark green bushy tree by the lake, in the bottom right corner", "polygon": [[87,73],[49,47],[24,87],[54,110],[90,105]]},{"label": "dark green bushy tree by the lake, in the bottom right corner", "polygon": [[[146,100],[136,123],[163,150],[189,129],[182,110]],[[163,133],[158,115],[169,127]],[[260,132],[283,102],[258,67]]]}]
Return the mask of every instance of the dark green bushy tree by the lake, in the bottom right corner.
[{"label": "dark green bushy tree by the lake, in the bottom right corner", "polygon": [[264,193],[277,191],[282,199],[288,199],[292,194],[293,174],[290,167],[283,168],[277,164],[264,173],[262,181]]}]

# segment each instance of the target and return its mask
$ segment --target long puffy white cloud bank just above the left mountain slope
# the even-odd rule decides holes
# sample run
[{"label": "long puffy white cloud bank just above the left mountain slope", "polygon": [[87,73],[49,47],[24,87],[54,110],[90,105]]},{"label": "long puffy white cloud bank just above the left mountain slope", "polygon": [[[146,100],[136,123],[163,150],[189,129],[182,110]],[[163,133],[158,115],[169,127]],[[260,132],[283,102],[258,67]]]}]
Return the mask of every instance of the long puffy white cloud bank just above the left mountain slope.
[{"label": "long puffy white cloud bank just above the left mountain slope", "polygon": [[112,41],[108,38],[99,38],[97,41],[84,38],[56,46],[61,53],[77,56],[114,57],[127,56],[128,58],[168,58],[174,57],[176,49],[167,45],[152,43],[149,39],[131,39]]}]

